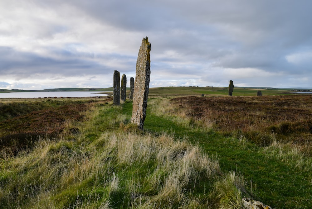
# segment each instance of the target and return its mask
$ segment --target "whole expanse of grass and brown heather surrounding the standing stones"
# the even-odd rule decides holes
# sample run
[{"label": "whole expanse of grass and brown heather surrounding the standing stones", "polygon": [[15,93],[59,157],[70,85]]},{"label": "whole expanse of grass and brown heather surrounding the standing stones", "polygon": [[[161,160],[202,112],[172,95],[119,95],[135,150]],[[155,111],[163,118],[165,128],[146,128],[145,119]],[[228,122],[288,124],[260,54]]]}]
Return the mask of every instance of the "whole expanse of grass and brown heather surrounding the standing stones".
[{"label": "whole expanse of grass and brown heather surrounding the standing stones", "polygon": [[144,132],[130,101],[0,100],[0,208],[312,208],[312,97],[240,91],[151,88]]}]

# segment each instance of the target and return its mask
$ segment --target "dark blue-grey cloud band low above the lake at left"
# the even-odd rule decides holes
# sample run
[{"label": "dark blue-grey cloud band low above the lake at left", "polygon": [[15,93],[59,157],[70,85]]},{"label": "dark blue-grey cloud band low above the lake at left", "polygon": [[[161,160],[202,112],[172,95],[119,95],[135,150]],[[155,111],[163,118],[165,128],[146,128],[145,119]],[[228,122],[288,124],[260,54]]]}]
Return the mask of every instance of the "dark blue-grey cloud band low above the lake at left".
[{"label": "dark blue-grey cloud band low above the lake at left", "polygon": [[[12,75],[16,78],[27,78],[33,74],[59,74],[64,76],[110,74],[113,70],[98,61],[92,61],[95,55],[73,53],[68,50],[53,49],[51,55],[58,55],[61,59],[40,56],[35,53],[20,52],[9,47],[0,47],[0,72],[2,75]],[[121,55],[98,55],[106,60],[124,60],[132,57]],[[85,59],[81,59],[85,58]],[[90,58],[90,59],[89,59]],[[124,64],[133,65],[133,61]],[[133,69],[128,69],[131,71]],[[127,71],[127,69],[124,69]]]}]

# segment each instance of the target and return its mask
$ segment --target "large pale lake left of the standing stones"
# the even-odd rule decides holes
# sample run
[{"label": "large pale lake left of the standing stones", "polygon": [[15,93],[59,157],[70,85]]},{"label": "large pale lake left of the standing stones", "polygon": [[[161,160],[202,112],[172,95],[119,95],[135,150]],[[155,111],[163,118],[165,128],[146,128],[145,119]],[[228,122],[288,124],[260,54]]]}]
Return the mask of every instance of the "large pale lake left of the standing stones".
[{"label": "large pale lake left of the standing stones", "polygon": [[44,97],[101,97],[103,92],[13,92],[0,93],[0,98],[44,98]]}]

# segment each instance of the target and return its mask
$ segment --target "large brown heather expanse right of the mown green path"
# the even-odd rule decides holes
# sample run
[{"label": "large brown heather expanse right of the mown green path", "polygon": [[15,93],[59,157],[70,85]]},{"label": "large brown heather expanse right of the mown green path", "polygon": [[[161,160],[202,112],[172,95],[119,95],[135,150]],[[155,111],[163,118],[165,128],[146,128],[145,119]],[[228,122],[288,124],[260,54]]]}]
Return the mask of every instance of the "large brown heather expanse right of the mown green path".
[{"label": "large brown heather expanse right of the mown green path", "polygon": [[187,115],[225,134],[239,134],[259,145],[272,140],[300,145],[312,154],[312,97],[178,97],[172,99]]}]

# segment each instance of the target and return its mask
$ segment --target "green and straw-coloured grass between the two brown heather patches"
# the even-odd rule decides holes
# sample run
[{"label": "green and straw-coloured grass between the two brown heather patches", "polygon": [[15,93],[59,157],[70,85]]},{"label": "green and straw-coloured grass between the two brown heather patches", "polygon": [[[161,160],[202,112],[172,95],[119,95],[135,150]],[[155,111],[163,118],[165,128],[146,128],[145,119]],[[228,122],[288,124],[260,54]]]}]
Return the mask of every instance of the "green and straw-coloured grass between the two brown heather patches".
[{"label": "green and straw-coloured grass between the two brown heather patches", "polygon": [[[311,208],[311,159],[291,146],[225,136],[150,98],[144,131],[132,102],[100,101],[15,157],[0,159],[0,208]],[[70,130],[77,130],[75,132]]]}]

